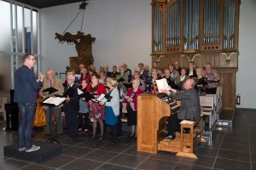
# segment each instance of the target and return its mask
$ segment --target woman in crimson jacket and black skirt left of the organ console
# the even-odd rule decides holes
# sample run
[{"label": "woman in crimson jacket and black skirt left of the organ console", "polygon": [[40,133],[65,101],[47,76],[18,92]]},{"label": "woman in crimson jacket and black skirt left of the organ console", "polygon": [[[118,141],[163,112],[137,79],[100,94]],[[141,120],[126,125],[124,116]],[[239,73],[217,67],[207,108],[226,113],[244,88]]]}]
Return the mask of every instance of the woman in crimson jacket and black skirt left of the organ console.
[{"label": "woman in crimson jacket and black skirt left of the organ console", "polygon": [[140,82],[138,79],[132,81],[132,88],[130,88],[125,96],[127,107],[127,124],[131,126],[130,138],[136,138],[136,125],[137,125],[137,96],[143,94],[143,90],[139,88]]}]

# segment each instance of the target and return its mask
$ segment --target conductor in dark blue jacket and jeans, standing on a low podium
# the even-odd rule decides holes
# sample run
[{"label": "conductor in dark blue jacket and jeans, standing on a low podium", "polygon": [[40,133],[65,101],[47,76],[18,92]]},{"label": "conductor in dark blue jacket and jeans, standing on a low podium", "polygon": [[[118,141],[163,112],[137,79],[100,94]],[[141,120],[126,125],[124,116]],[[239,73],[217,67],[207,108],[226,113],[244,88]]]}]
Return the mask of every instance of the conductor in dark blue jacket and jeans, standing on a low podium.
[{"label": "conductor in dark blue jacket and jeans, standing on a low podium", "polygon": [[32,67],[36,64],[33,54],[25,54],[23,65],[15,71],[15,98],[20,109],[19,151],[31,152],[40,146],[32,144],[32,128],[37,103],[37,90],[43,84],[44,75],[36,80]]}]

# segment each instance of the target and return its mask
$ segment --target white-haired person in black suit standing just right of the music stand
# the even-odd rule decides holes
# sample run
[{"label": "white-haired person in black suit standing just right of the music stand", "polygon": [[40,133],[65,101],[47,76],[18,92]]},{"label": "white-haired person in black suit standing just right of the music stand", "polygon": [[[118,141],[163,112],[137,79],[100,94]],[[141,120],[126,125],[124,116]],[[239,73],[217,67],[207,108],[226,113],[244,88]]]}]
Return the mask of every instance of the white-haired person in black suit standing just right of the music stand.
[{"label": "white-haired person in black suit standing just right of the music stand", "polygon": [[72,139],[79,133],[79,84],[75,83],[74,80],[73,74],[67,75],[67,87],[64,91],[64,95],[67,96],[64,103],[64,111],[67,116],[68,133]]}]

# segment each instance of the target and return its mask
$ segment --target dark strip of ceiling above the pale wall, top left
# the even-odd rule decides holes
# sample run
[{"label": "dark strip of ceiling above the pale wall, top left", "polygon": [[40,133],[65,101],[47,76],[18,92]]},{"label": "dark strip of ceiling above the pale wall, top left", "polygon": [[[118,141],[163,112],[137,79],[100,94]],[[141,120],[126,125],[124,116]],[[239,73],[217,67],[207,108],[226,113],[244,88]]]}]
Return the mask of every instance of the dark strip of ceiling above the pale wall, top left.
[{"label": "dark strip of ceiling above the pale wall, top left", "polygon": [[36,8],[48,8],[57,5],[63,5],[67,3],[78,3],[83,2],[81,0],[16,0],[20,3],[25,3]]}]

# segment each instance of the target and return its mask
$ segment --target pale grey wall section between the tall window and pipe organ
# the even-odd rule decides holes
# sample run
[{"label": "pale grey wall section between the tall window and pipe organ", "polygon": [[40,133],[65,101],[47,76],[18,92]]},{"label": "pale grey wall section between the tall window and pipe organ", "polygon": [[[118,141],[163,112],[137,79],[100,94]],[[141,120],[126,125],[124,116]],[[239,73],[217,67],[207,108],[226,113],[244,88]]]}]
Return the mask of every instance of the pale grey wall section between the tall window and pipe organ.
[{"label": "pale grey wall section between the tall window and pipe organ", "polygon": [[[85,12],[84,32],[96,37],[93,56],[97,68],[121,65],[135,68],[138,62],[151,65],[151,0],[93,0]],[[42,69],[65,71],[68,57],[77,56],[74,46],[59,43],[55,32],[62,33],[79,12],[80,3],[41,10]],[[82,14],[68,29],[80,30]]]}]

